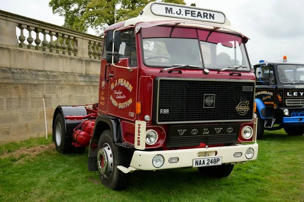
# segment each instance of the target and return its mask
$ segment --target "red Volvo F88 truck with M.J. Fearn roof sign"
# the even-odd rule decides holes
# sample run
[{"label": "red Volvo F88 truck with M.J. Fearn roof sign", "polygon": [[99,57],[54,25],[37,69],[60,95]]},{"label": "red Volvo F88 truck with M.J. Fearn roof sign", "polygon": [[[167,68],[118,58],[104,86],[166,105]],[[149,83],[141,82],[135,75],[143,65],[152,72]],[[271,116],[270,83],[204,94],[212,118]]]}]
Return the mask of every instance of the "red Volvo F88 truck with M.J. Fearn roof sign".
[{"label": "red Volvo F88 truck with M.J. Fearn roof sign", "polygon": [[98,103],[57,107],[56,149],[89,146],[88,170],[115,190],[136,170],[230,175],[258,152],[247,41],[220,11],[149,3],[105,30]]}]

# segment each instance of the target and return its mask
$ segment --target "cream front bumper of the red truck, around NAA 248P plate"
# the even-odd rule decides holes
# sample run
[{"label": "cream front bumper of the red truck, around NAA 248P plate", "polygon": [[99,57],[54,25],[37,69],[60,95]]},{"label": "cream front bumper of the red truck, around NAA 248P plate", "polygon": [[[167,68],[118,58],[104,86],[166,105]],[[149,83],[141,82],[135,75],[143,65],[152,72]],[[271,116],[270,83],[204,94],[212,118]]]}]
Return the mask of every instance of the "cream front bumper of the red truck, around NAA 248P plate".
[{"label": "cream front bumper of the red truck, around NAA 248P plate", "polygon": [[[247,148],[253,148],[254,156],[248,160],[245,157]],[[129,168],[118,166],[118,168],[125,172],[131,172],[134,170],[161,170],[171,168],[184,168],[192,167],[193,160],[204,157],[222,157],[222,164],[237,163],[252,161],[257,158],[258,144],[236,144],[234,146],[218,146],[209,148],[191,148],[191,149],[177,149],[177,150],[164,150],[164,151],[134,151],[131,164]],[[241,152],[241,157],[234,157],[236,152]],[[160,168],[153,166],[153,158],[156,155],[162,155],[165,159],[164,165]],[[177,163],[169,163],[170,158],[178,157]]]}]

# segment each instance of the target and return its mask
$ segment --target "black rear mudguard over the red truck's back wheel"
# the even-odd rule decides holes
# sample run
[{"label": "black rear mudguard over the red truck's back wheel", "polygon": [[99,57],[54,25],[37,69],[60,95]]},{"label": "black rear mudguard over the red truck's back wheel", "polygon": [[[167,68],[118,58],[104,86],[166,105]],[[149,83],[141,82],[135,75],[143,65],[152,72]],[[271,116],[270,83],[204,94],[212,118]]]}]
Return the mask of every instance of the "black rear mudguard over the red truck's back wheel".
[{"label": "black rear mudguard over the red truck's back wheel", "polygon": [[[54,112],[54,116],[53,116],[53,126],[52,128],[54,128],[54,122],[56,119],[56,116],[58,113],[61,113],[61,115],[63,116],[63,120],[64,120],[64,124],[65,124],[65,131],[66,131],[66,137],[72,137],[73,135],[73,130],[84,120],[66,120],[64,119],[65,116],[86,116],[87,115],[87,111],[83,106],[58,106],[55,109]],[[53,141],[55,140],[55,135],[53,135]]]}]

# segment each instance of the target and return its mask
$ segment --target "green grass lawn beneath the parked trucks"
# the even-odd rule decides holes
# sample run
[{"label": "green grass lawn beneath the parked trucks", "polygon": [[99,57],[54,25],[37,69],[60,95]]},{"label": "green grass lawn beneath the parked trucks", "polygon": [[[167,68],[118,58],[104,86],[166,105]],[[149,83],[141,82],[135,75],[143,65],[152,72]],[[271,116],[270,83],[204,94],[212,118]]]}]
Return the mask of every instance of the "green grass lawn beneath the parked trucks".
[{"label": "green grass lawn beneath the parked trucks", "polygon": [[60,155],[51,143],[0,145],[0,201],[304,201],[304,135],[283,130],[266,132],[258,159],[236,165],[229,177],[201,177],[194,168],[137,171],[124,191],[88,172],[88,150]]}]

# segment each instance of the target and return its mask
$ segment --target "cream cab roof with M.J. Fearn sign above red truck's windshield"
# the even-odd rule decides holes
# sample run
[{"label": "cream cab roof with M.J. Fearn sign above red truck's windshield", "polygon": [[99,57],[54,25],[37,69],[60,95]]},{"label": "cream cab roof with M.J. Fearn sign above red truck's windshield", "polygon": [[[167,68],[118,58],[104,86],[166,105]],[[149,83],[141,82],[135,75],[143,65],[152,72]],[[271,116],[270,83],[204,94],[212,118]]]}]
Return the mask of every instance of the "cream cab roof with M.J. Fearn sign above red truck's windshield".
[{"label": "cream cab roof with M.J. Fearn sign above red truck's windshield", "polygon": [[[158,23],[156,23],[158,21]],[[236,32],[242,36],[242,33],[231,27],[230,21],[221,11],[201,9],[197,7],[184,6],[179,4],[169,4],[160,2],[151,2],[147,4],[136,18],[125,21],[125,26],[136,25],[142,22],[155,22],[156,24],[176,24],[181,26],[193,26],[214,29],[226,29]],[[189,22],[189,23],[187,23]],[[141,27],[145,27],[144,25]],[[247,36],[245,38],[249,39]]]}]

